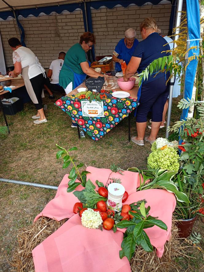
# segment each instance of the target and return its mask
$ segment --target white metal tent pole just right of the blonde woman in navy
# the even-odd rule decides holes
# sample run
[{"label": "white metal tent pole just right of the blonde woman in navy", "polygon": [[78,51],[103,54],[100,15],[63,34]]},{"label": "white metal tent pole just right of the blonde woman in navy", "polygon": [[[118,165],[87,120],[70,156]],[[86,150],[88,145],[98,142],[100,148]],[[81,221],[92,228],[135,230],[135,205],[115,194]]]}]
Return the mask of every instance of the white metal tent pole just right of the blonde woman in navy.
[{"label": "white metal tent pole just right of the blonde woman in navy", "polygon": [[[176,12],[176,25],[175,27],[177,28],[180,23],[181,23],[181,14],[179,11],[182,10],[182,4],[183,4],[183,0],[178,0],[177,3],[177,12]],[[178,40],[179,38],[179,29],[176,29],[175,32],[175,41]],[[176,44],[174,43],[174,48],[176,47]],[[167,128],[170,126],[170,121],[171,121],[171,108],[172,108],[172,97],[173,97],[173,87],[174,87],[174,81],[175,81],[175,77],[171,78],[170,81],[170,91],[169,91],[169,106],[168,106],[168,112],[167,112]],[[166,138],[169,137],[169,132],[167,131],[166,128]]]}]

